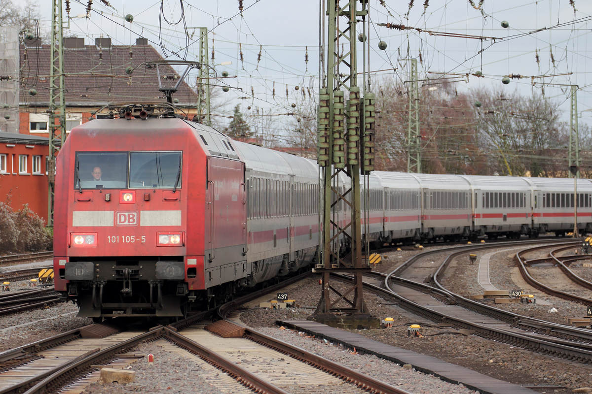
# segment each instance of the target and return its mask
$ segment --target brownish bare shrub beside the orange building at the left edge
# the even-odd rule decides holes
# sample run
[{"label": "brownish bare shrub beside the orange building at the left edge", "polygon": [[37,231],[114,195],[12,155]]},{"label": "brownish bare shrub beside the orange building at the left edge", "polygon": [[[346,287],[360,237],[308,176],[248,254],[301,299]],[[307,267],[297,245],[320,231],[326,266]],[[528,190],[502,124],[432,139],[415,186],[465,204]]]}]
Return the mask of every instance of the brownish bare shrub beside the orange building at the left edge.
[{"label": "brownish bare shrub beside the orange building at the left edge", "polygon": [[43,220],[27,204],[15,212],[7,204],[0,203],[0,229],[2,252],[37,252],[52,245],[52,237]]}]

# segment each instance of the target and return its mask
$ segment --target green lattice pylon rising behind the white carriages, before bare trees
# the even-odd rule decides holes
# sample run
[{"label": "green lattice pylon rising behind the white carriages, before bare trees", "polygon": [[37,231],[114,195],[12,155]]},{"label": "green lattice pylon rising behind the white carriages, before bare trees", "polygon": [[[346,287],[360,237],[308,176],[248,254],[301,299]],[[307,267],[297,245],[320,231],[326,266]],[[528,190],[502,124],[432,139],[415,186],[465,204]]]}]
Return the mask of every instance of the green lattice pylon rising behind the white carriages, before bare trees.
[{"label": "green lattice pylon rising behind the white carriages, before bare trees", "polygon": [[407,123],[407,172],[422,172],[422,135],[419,131],[419,77],[417,59],[409,64],[409,117]]}]

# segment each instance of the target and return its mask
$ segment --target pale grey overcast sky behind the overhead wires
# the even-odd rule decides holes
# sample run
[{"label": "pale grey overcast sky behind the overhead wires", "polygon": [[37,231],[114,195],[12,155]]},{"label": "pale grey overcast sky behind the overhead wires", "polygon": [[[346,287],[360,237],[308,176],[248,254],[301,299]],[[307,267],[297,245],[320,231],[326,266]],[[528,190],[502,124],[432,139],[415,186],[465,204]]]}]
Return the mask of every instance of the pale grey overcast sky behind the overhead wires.
[{"label": "pale grey overcast sky behind the overhead wires", "polygon": [[[477,86],[501,86],[501,78],[510,73],[525,76],[542,74],[564,74],[568,76],[538,79],[540,82],[555,84],[577,84],[578,110],[592,108],[588,86],[592,77],[588,75],[588,59],[592,40],[588,38],[592,29],[592,2],[574,0],[575,9],[570,0],[484,0],[482,10],[475,9],[467,0],[429,1],[427,9],[416,0],[413,8],[408,9],[408,2],[384,0],[384,6],[378,0],[370,0],[369,45],[370,64],[376,81],[395,76],[406,80],[404,69],[408,57],[418,58],[422,53],[420,73],[467,73],[482,70],[484,78],[470,77],[469,83],[458,83],[458,92],[465,92]],[[46,4],[47,3],[47,4]],[[478,0],[475,0],[476,6]],[[244,106],[271,109],[281,113],[293,102],[294,86],[318,86],[318,35],[319,2],[318,0],[244,0],[242,16],[239,14],[238,0],[184,2],[184,14],[178,0],[165,0],[161,14],[160,1],[112,0],[112,8],[95,0],[90,18],[85,18],[87,1],[70,1],[72,11],[70,29],[66,35],[85,37],[86,43],[94,38],[111,37],[114,44],[134,44],[140,35],[148,38],[152,45],[169,58],[179,59],[173,53],[186,60],[197,60],[197,34],[195,27],[207,27],[210,53],[214,40],[215,63],[232,61],[231,66],[217,66],[218,71],[227,70],[236,79],[226,79],[231,87],[228,93],[221,93],[233,102],[243,102]],[[41,4],[41,13],[49,17],[49,2]],[[64,9],[64,14],[66,11]],[[408,12],[408,15],[407,15]],[[131,14],[133,23],[124,20],[124,15]],[[78,17],[79,16],[79,17]],[[165,18],[172,22],[170,25]],[[179,22],[175,24],[175,22]],[[501,21],[509,22],[509,28],[503,28]],[[404,24],[423,30],[459,33],[484,37],[503,38],[503,40],[477,40],[471,38],[443,37],[430,35],[415,30],[388,30],[377,24],[391,22]],[[551,29],[549,29],[552,27]],[[361,24],[359,24],[361,29]],[[541,31],[538,31],[543,29]],[[530,34],[529,34],[530,33]],[[387,43],[387,50],[378,49],[378,41]],[[162,45],[162,47],[161,47]],[[262,55],[258,63],[258,53],[262,45]],[[308,47],[308,64],[305,63],[305,51]],[[244,62],[240,61],[242,50]],[[481,53],[480,51],[483,50]],[[536,63],[536,53],[539,63]],[[555,63],[551,60],[551,53]],[[211,54],[210,54],[211,56]],[[360,54],[361,57],[361,54]],[[392,69],[397,68],[397,71]],[[359,71],[362,61],[359,60]],[[422,77],[425,77],[423,74]],[[428,74],[435,77],[437,74]],[[194,77],[192,77],[194,78]],[[272,95],[274,88],[276,94]],[[286,84],[291,97],[286,100]],[[250,95],[251,87],[254,99],[240,99]],[[530,79],[512,80],[504,89],[521,93],[540,92],[541,85],[533,87]],[[220,89],[220,88],[215,88]],[[561,105],[561,110],[568,115],[569,87],[548,85],[545,94]],[[295,97],[300,97],[296,95]],[[583,122],[590,123],[592,112],[583,113]]]}]

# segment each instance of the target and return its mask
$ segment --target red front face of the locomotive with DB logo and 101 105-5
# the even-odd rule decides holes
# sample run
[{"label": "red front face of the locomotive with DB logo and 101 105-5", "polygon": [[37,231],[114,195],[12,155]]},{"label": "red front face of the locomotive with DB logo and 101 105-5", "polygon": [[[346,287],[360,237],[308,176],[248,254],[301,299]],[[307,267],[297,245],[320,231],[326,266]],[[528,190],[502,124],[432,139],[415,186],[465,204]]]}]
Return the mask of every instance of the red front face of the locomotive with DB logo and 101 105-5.
[{"label": "red front face of the locomotive with DB logo and 101 105-5", "polygon": [[79,316],[184,314],[204,288],[204,197],[191,190],[205,189],[205,171],[189,174],[201,164],[181,119],[96,119],[72,130],[57,157],[54,270]]}]

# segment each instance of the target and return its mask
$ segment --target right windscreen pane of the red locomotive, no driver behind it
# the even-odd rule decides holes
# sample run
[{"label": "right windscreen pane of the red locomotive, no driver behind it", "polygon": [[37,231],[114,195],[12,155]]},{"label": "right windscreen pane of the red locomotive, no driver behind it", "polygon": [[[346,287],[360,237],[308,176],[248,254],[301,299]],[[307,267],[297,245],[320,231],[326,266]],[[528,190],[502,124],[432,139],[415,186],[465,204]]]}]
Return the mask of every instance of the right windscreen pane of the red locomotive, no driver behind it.
[{"label": "right windscreen pane of the red locomotive, no driver behind it", "polygon": [[181,152],[130,152],[130,188],[181,188]]}]

